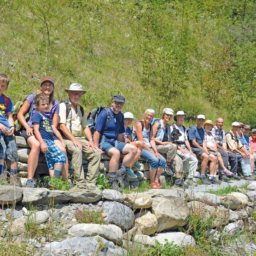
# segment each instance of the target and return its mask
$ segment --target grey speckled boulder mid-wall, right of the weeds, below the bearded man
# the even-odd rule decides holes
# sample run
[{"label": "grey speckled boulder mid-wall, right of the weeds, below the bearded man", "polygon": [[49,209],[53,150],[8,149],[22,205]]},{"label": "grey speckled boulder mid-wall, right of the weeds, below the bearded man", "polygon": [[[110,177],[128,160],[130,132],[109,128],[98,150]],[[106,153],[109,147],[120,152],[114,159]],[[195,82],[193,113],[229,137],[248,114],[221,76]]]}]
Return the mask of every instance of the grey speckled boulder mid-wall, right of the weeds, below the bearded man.
[{"label": "grey speckled boulder mid-wall, right of the weeds, below the bearded man", "polygon": [[134,223],[134,212],[128,206],[119,202],[105,201],[102,209],[107,214],[105,221],[115,224],[122,229],[129,230]]}]

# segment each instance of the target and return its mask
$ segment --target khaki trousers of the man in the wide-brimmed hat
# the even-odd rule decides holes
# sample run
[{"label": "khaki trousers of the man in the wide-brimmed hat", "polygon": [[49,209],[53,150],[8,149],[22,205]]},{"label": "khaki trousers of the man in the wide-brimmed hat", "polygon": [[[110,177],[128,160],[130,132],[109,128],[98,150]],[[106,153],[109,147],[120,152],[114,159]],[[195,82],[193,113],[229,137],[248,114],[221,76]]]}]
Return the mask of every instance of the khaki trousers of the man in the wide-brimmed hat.
[{"label": "khaki trousers of the man in the wide-brimmed hat", "polygon": [[[71,169],[74,174],[74,184],[76,185],[84,182],[96,184],[99,174],[101,154],[97,150],[93,152],[91,147],[87,149],[89,142],[85,139],[85,137],[76,137],[76,140],[82,144],[82,150],[77,148],[71,140],[64,138],[67,151],[72,155]],[[89,161],[86,180],[84,180],[84,170],[82,166],[83,157]]]}]

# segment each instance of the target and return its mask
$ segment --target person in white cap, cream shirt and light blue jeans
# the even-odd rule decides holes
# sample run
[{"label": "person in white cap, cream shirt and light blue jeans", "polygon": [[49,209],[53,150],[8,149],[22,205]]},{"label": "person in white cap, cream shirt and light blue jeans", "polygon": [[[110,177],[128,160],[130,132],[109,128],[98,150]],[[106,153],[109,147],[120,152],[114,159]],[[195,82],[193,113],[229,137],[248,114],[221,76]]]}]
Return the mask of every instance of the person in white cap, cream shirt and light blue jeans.
[{"label": "person in white cap, cream shirt and light blue jeans", "polygon": [[247,156],[246,148],[238,138],[238,130],[239,122],[233,122],[232,129],[226,133],[227,148],[236,154],[239,163],[241,163],[244,180],[254,180],[250,169],[250,158]]}]

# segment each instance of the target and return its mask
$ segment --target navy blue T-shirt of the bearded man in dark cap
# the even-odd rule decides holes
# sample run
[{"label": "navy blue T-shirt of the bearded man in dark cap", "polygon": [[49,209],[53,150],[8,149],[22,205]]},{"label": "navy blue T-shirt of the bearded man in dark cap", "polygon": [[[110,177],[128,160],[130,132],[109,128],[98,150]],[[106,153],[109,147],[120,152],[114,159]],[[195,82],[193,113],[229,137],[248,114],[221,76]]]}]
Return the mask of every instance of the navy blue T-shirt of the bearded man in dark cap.
[{"label": "navy blue T-shirt of the bearded man in dark cap", "polygon": [[99,113],[95,124],[95,130],[100,132],[101,135],[105,136],[105,142],[110,143],[111,145],[115,146],[115,141],[119,134],[125,132],[124,126],[124,116],[121,112],[115,114],[111,108],[108,108],[111,112],[111,120],[110,122],[105,125],[108,112],[106,110],[102,110]]}]

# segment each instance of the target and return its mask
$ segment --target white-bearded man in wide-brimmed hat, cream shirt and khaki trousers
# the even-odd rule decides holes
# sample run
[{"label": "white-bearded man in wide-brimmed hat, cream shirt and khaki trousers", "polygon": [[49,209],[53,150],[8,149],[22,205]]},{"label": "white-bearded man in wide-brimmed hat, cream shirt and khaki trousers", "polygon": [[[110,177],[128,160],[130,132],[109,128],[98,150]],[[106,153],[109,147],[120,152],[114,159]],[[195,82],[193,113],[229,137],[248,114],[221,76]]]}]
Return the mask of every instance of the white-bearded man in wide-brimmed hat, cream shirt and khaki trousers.
[{"label": "white-bearded man in wide-brimmed hat, cream shirt and khaki trousers", "polygon": [[[86,182],[96,184],[102,151],[94,145],[83,108],[78,104],[86,91],[78,83],[72,83],[65,91],[69,95],[69,100],[59,105],[59,129],[64,135],[67,151],[72,155],[71,168],[74,174],[74,184],[85,182],[83,156],[89,161]],[[81,135],[82,129],[85,137]]]}]

